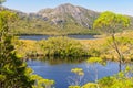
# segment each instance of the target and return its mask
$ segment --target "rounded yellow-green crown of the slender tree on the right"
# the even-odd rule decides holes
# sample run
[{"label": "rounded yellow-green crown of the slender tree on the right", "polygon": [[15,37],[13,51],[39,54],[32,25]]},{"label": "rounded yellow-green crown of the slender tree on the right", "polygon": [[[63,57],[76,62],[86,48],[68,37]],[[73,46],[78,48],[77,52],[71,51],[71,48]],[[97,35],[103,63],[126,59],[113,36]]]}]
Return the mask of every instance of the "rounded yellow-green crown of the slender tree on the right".
[{"label": "rounded yellow-green crown of the slender tree on the right", "polygon": [[93,29],[101,29],[101,32],[110,34],[123,30],[129,25],[130,19],[127,16],[105,11],[94,21]]}]

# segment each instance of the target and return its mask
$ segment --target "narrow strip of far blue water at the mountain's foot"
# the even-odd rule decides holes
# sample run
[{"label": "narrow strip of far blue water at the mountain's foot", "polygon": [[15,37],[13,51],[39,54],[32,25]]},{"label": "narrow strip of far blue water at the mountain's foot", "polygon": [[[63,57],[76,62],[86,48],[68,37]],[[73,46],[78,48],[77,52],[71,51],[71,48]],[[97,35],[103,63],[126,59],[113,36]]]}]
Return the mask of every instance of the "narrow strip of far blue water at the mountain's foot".
[{"label": "narrow strip of far blue water at the mountain's foot", "polygon": [[[89,40],[89,38],[95,38],[93,35],[68,35],[69,37],[79,38],[79,40]],[[22,35],[20,38],[22,40],[47,40],[49,37],[52,37],[50,35]]]}]

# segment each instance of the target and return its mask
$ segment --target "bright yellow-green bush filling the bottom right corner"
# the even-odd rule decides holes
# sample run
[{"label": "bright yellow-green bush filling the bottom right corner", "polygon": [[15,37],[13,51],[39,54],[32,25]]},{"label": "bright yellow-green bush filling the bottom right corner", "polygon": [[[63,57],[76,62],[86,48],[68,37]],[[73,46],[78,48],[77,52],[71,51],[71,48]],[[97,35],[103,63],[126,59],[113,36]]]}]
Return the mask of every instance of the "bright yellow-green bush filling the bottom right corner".
[{"label": "bright yellow-green bush filling the bottom right corner", "polygon": [[126,66],[125,70],[122,70],[114,76],[100,79],[99,85],[102,88],[133,88],[133,77],[126,76],[129,72],[131,72],[131,68]]}]

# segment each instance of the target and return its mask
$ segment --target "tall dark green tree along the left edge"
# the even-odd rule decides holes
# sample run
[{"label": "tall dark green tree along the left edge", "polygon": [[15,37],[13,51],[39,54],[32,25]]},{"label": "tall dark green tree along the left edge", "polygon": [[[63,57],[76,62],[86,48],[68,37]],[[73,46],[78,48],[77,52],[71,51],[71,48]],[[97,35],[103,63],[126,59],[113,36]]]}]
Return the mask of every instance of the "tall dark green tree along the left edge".
[{"label": "tall dark green tree along the left edge", "polygon": [[0,12],[0,87],[31,88],[33,80],[27,74],[27,65],[17,57],[12,45],[12,34],[8,23],[14,21],[16,14],[10,11]]}]

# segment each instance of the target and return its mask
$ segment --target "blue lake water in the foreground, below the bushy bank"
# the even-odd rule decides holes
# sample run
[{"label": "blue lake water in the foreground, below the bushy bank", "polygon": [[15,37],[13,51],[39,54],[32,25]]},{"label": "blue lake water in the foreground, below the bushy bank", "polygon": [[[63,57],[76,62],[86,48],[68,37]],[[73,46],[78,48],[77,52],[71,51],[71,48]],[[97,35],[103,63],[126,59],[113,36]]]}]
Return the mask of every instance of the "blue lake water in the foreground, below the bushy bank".
[{"label": "blue lake water in the foreground, below the bushy bank", "polygon": [[[68,88],[70,77],[74,77],[74,74],[71,73],[72,68],[82,68],[84,70],[84,77],[82,78],[83,85],[89,81],[95,80],[95,69],[98,69],[98,77],[102,78],[105,76],[111,76],[119,73],[119,63],[116,62],[106,62],[106,65],[101,64],[86,64],[81,62],[81,59],[72,63],[73,61],[28,61],[28,65],[34,70],[35,74],[42,76],[43,78],[55,80],[55,88]],[[126,64],[122,65],[124,69]],[[71,81],[73,82],[73,81]]]}]

